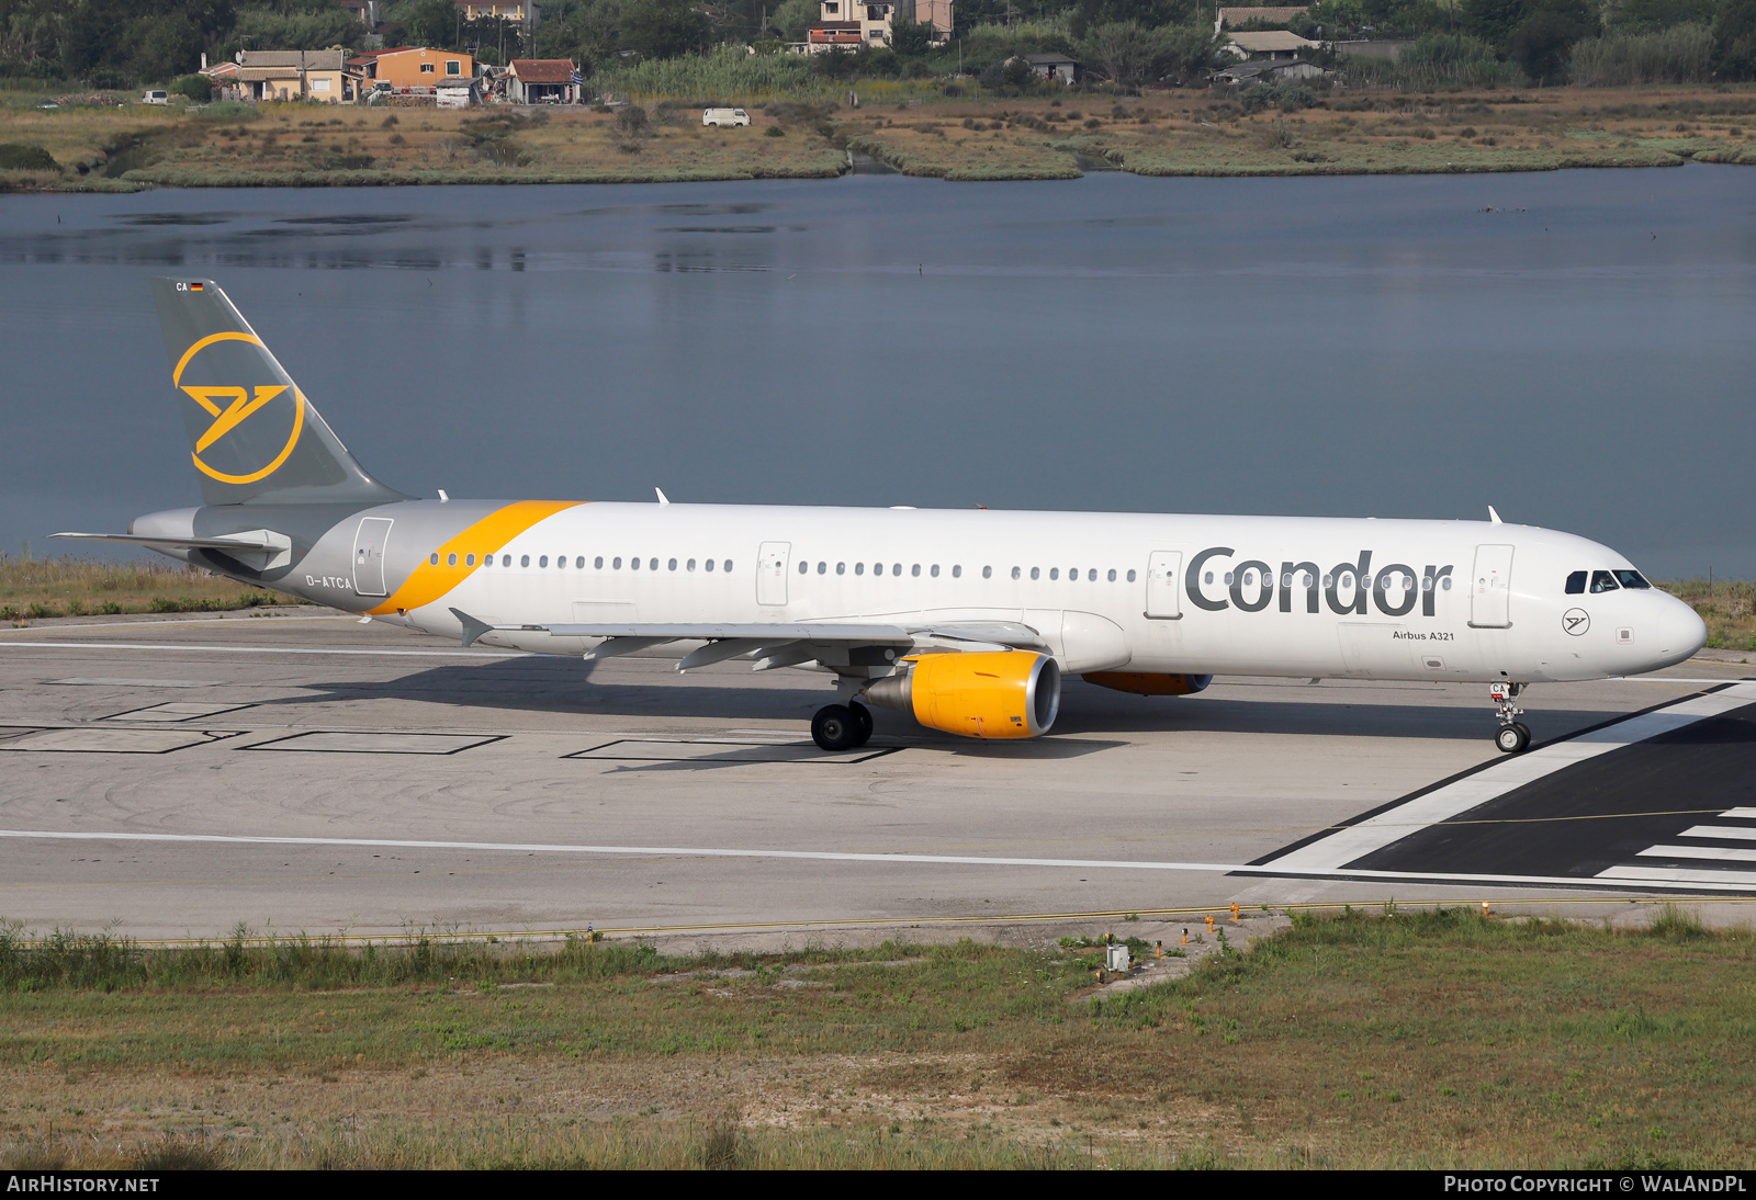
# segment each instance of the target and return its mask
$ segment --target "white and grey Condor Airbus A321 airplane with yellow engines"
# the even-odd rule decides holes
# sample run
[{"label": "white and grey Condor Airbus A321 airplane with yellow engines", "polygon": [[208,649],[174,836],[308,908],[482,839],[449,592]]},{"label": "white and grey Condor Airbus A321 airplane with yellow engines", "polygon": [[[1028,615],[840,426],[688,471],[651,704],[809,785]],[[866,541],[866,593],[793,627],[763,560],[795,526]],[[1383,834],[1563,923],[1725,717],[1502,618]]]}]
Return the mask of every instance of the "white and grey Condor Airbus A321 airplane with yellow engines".
[{"label": "white and grey Condor Airbus A321 airplane with yellow engines", "polygon": [[1521,753],[1535,682],[1680,663],[1702,618],[1584,537],[1489,521],[434,500],[385,486],[211,279],[155,279],[202,505],[126,533],[248,584],[462,646],[820,672],[824,751],[867,705],[1040,737],[1068,674],[1486,682]]}]

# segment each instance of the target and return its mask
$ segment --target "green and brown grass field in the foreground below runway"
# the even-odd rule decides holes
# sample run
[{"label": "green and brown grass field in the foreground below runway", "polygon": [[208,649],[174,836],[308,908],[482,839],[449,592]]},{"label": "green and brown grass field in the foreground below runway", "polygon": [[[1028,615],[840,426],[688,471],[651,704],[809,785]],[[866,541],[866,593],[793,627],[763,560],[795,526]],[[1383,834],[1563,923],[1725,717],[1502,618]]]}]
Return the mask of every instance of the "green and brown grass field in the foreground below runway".
[{"label": "green and brown grass field in the foreground below runway", "polygon": [[1756,939],[1299,918],[1099,947],[671,958],[0,937],[0,1165],[1749,1167]]}]

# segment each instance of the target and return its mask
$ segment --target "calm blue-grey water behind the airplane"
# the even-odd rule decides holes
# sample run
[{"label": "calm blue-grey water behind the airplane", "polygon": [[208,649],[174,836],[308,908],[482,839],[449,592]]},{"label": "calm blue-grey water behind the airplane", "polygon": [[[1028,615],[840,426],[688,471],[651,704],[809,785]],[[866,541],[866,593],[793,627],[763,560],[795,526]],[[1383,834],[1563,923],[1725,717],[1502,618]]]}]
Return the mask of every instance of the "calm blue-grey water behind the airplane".
[{"label": "calm blue-grey water behind the airplane", "polygon": [[193,504],[227,288],[411,493],[1482,518],[1756,575],[1756,172],[0,198],[0,546]]}]

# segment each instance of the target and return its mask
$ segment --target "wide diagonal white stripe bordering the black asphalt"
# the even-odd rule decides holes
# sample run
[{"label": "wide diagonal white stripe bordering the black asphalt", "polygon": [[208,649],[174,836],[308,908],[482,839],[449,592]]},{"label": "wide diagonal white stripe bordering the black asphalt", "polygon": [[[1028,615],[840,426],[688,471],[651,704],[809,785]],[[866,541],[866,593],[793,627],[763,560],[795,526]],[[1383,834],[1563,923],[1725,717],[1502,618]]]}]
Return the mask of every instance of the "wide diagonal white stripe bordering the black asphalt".
[{"label": "wide diagonal white stripe bordering the black asphalt", "polygon": [[[1731,712],[1733,709],[1742,709],[1751,700],[1756,700],[1756,682],[1740,682],[1726,688],[1724,691],[1682,700],[1656,712],[1633,716],[1601,730],[1580,733],[1579,737],[1545,746],[1528,754],[1515,754],[1494,763],[1493,767],[1479,770],[1473,775],[1459,779],[1454,784],[1429,791],[1424,796],[1410,800],[1408,804],[1400,804],[1387,812],[1380,812],[1375,818],[1361,821],[1359,825],[1352,825],[1345,830],[1331,833],[1329,837],[1319,839],[1310,846],[1301,846],[1291,854],[1263,863],[1263,867],[1273,867],[1277,874],[1287,870],[1326,874],[1340,872],[1356,858],[1364,858],[1373,851],[1384,849],[1391,842],[1408,837],[1421,826],[1449,821],[1459,812],[1468,812],[1480,804],[1496,800],[1498,796],[1503,796],[1515,788],[1522,788],[1528,782],[1535,782],[1544,775],[1552,775],[1558,770],[1566,770],[1568,767],[1596,758],[1598,754],[1607,754],[1614,749],[1680,730],[1695,725],[1696,721],[1705,721],[1709,718]],[[1745,833],[1745,837],[1749,837],[1749,833]],[[1357,875],[1363,872],[1347,874]]]}]

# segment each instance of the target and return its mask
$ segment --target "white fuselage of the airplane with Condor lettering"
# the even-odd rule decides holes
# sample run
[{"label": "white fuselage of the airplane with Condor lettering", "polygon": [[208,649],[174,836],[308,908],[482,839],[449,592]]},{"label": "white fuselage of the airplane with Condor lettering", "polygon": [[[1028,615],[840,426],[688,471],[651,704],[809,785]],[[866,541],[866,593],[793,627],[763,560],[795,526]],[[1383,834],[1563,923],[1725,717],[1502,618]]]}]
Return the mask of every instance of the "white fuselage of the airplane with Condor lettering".
[{"label": "white fuselage of the airplane with Condor lettering", "polygon": [[1658,589],[1566,593],[1570,574],[1601,570],[1631,563],[1570,533],[1482,521],[583,504],[385,619],[444,635],[460,630],[451,609],[495,625],[1017,621],[1075,674],[1542,682],[1700,649],[1700,618]]}]

